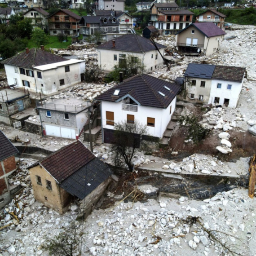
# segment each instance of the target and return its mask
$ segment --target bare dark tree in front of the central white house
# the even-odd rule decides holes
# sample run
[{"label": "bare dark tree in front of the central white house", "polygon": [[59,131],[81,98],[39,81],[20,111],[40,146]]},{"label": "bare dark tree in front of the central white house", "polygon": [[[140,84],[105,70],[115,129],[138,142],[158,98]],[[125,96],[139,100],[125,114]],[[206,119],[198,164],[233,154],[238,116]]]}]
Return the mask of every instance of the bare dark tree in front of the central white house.
[{"label": "bare dark tree in front of the central white house", "polygon": [[[142,140],[142,136],[147,137],[148,141]],[[111,152],[115,165],[127,166],[129,171],[133,171],[132,158],[137,149],[149,151],[152,137],[148,135],[147,126],[140,124],[136,120],[131,123],[120,122],[115,124],[114,138],[112,141]]]}]

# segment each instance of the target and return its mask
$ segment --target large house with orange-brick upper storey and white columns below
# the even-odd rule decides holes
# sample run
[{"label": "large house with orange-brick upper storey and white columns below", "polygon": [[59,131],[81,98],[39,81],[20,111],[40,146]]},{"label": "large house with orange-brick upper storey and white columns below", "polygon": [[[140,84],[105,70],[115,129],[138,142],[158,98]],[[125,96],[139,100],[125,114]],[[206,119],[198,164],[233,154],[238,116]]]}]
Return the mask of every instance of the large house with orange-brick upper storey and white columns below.
[{"label": "large house with orange-brick upper storey and white columns below", "polygon": [[188,10],[178,10],[175,2],[154,2],[150,10],[150,24],[155,26],[162,35],[172,35],[189,26],[194,15]]}]

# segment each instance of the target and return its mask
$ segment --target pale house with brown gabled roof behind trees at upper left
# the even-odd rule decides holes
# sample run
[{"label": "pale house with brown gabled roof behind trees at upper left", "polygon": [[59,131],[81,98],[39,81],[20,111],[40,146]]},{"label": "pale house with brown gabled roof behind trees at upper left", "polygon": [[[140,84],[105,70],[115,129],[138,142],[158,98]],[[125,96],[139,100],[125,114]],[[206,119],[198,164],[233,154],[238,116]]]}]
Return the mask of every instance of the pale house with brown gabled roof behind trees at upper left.
[{"label": "pale house with brown gabled roof behind trees at upper left", "polygon": [[49,16],[49,13],[41,7],[32,7],[23,15],[25,18],[32,19],[32,25],[34,28],[40,27],[41,29],[44,29],[48,27],[47,17]]}]

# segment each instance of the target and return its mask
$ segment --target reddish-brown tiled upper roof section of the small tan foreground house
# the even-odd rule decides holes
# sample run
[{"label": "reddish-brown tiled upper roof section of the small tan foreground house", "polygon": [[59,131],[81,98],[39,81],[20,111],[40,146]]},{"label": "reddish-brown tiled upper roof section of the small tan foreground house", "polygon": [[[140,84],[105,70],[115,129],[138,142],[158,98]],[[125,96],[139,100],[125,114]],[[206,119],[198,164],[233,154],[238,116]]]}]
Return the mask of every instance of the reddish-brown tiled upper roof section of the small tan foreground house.
[{"label": "reddish-brown tiled upper roof section of the small tan foreground house", "polygon": [[60,183],[94,158],[81,141],[75,141],[50,154],[40,164]]}]

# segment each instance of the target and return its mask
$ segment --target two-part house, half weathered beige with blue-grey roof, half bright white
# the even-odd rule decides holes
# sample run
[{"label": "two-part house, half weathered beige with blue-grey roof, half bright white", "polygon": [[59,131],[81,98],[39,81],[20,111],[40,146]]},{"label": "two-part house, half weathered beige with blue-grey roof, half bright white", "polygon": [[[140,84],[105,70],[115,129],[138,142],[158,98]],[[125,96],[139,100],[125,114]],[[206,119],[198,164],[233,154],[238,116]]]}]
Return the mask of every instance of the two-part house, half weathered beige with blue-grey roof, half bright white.
[{"label": "two-part house, half weathered beige with blue-grey roof, half bright white", "polygon": [[186,99],[204,104],[236,107],[245,68],[190,63],[185,71]]}]

